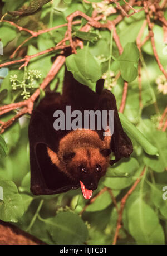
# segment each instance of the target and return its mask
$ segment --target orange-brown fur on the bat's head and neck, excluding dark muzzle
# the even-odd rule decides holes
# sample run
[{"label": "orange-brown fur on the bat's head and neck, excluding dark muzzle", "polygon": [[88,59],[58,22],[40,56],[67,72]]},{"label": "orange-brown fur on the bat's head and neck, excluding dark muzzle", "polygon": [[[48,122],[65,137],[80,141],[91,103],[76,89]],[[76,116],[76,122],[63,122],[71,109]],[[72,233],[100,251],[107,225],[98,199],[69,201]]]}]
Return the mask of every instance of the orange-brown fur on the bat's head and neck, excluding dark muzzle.
[{"label": "orange-brown fur on the bat's head and neck, excluding dark muzzle", "polygon": [[[103,176],[109,166],[110,157],[103,156],[100,151],[109,149],[110,142],[111,136],[102,141],[97,132],[81,129],[68,133],[60,140],[57,154],[50,148],[47,151],[52,163],[71,179],[78,178],[77,167],[80,165],[85,165],[92,175],[95,174],[95,165],[101,165],[100,176]],[[69,152],[75,153],[75,156],[65,160],[63,156]]]}]

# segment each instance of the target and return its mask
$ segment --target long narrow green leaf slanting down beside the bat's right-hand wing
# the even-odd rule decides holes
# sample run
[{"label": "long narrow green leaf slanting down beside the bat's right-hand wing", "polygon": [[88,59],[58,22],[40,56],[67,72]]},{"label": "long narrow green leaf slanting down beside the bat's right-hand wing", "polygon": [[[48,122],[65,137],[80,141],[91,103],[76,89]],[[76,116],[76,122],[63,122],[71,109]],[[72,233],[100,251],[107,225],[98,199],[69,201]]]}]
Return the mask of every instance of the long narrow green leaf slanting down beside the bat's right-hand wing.
[{"label": "long narrow green leaf slanting down beside the bat's right-hand wing", "polygon": [[130,134],[140,145],[143,147],[144,151],[148,154],[158,156],[158,149],[154,147],[148,139],[132,124],[129,120],[126,119],[125,115],[119,113],[119,117],[122,123],[122,126],[125,129],[125,132]]}]

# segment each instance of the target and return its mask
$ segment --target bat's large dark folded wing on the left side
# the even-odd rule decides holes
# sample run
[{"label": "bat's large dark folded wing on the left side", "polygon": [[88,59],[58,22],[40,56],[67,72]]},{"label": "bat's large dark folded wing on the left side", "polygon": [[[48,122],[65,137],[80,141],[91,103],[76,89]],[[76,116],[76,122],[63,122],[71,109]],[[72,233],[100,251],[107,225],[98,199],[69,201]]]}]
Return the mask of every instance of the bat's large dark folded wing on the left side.
[{"label": "bat's large dark folded wing on the left side", "polygon": [[53,129],[52,118],[56,102],[54,103],[51,97],[56,99],[60,95],[46,95],[40,105],[33,110],[29,124],[31,191],[35,195],[57,194],[80,186],[72,183],[57,166],[53,165],[47,153],[47,147],[57,152],[60,136],[58,131]]}]

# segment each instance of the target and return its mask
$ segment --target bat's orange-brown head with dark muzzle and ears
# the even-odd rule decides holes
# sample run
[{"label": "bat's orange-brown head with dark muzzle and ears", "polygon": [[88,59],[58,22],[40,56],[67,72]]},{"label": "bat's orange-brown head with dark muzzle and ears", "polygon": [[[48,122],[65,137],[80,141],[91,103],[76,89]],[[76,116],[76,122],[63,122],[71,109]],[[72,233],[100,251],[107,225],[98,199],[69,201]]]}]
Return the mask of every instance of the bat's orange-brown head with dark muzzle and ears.
[{"label": "bat's orange-brown head with dark muzzle and ears", "polygon": [[76,181],[81,181],[87,190],[97,189],[98,182],[105,175],[110,161],[110,149],[81,147],[63,154],[65,171]]}]

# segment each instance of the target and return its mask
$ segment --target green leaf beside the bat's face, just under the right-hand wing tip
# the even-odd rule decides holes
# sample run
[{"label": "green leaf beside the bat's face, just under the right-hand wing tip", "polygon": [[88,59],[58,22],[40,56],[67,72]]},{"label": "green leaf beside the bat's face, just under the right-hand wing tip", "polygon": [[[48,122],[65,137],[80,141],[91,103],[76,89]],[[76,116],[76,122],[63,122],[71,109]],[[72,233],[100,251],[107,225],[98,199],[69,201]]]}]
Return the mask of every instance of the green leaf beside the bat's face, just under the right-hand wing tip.
[{"label": "green leaf beside the bat's face, just under the right-hand wing tip", "polygon": [[106,177],[129,177],[134,175],[139,168],[139,163],[134,157],[123,159],[116,165],[109,167],[106,172]]}]

